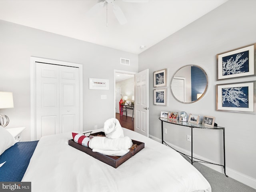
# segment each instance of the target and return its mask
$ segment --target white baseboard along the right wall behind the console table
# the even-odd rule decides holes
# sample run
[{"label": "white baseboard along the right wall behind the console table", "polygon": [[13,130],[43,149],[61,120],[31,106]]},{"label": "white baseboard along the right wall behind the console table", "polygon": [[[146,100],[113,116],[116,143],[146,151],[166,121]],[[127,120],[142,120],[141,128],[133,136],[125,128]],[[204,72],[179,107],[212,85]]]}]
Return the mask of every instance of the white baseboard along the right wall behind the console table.
[{"label": "white baseboard along the right wall behind the console table", "polygon": [[[159,139],[159,138],[157,138],[155,136],[149,135],[149,137],[152,138],[153,140],[157,141],[157,142],[160,142],[160,143],[162,142],[161,139]],[[183,148],[181,148],[179,146],[176,146],[174,144],[171,144],[169,142],[166,142],[166,143],[168,145],[170,145],[172,148],[178,150],[179,152],[182,152],[182,153],[184,153],[186,155],[191,155],[191,151],[185,150],[185,149],[183,149]],[[197,155],[197,154],[194,154],[194,153],[193,153],[193,157],[199,158],[199,159],[202,159],[202,160],[205,160],[205,161],[208,161],[208,162],[213,162],[212,160],[209,160],[207,158],[204,158],[204,157],[202,157],[200,155]],[[213,163],[216,163],[216,162],[213,162]],[[208,163],[202,163],[202,164],[212,168],[213,170],[216,170],[216,171],[224,174],[224,170],[223,170],[223,168],[221,166],[216,166],[216,165],[212,165],[212,164],[208,164]],[[242,173],[240,173],[240,172],[238,172],[236,170],[233,170],[231,168],[228,168],[228,167],[226,167],[226,174],[229,177],[231,177],[231,178],[233,178],[235,180],[238,180],[239,182],[241,182],[243,184],[246,184],[246,185],[256,189],[256,179],[254,179],[254,178],[252,178],[250,176],[247,176],[245,174],[242,174]]]}]

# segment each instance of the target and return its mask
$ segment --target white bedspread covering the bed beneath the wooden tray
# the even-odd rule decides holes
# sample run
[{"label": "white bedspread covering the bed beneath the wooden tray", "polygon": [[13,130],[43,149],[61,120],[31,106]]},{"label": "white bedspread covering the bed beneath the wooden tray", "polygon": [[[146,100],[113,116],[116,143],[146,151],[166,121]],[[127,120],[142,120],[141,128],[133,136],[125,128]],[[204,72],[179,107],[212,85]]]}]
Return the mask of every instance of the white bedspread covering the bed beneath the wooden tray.
[{"label": "white bedspread covering the bed beneath the wooden tray", "polygon": [[40,139],[22,182],[32,182],[32,192],[211,192],[208,181],[178,152],[123,130],[145,148],[118,168],[69,146],[71,132],[56,134]]}]

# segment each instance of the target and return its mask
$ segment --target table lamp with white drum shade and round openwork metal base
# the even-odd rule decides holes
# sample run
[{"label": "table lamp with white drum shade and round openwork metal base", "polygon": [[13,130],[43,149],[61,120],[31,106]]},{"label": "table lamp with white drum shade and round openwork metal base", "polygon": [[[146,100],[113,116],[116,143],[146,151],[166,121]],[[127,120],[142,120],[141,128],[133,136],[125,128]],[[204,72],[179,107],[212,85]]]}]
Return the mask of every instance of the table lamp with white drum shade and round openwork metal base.
[{"label": "table lamp with white drum shade and round openwork metal base", "polygon": [[[12,92],[0,92],[0,109],[14,108]],[[4,123],[4,118],[6,122]],[[9,124],[8,116],[0,114],[0,126],[6,127]]]}]

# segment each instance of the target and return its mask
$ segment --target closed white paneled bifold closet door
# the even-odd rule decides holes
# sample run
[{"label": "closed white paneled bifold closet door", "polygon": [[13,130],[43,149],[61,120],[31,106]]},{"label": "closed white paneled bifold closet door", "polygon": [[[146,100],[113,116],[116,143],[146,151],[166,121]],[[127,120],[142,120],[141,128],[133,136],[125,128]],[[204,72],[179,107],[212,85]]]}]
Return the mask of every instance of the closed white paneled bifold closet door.
[{"label": "closed white paneled bifold closet door", "polygon": [[36,139],[79,131],[79,69],[36,63]]}]

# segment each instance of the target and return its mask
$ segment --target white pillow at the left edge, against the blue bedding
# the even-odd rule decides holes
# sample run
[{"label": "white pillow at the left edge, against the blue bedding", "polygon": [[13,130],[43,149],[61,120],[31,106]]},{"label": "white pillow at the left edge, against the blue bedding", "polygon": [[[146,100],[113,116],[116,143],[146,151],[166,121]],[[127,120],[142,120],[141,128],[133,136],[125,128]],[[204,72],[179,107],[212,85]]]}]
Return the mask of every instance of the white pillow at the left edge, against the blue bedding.
[{"label": "white pillow at the left edge, against the blue bedding", "polygon": [[5,128],[0,126],[0,155],[16,143],[14,137]]}]

